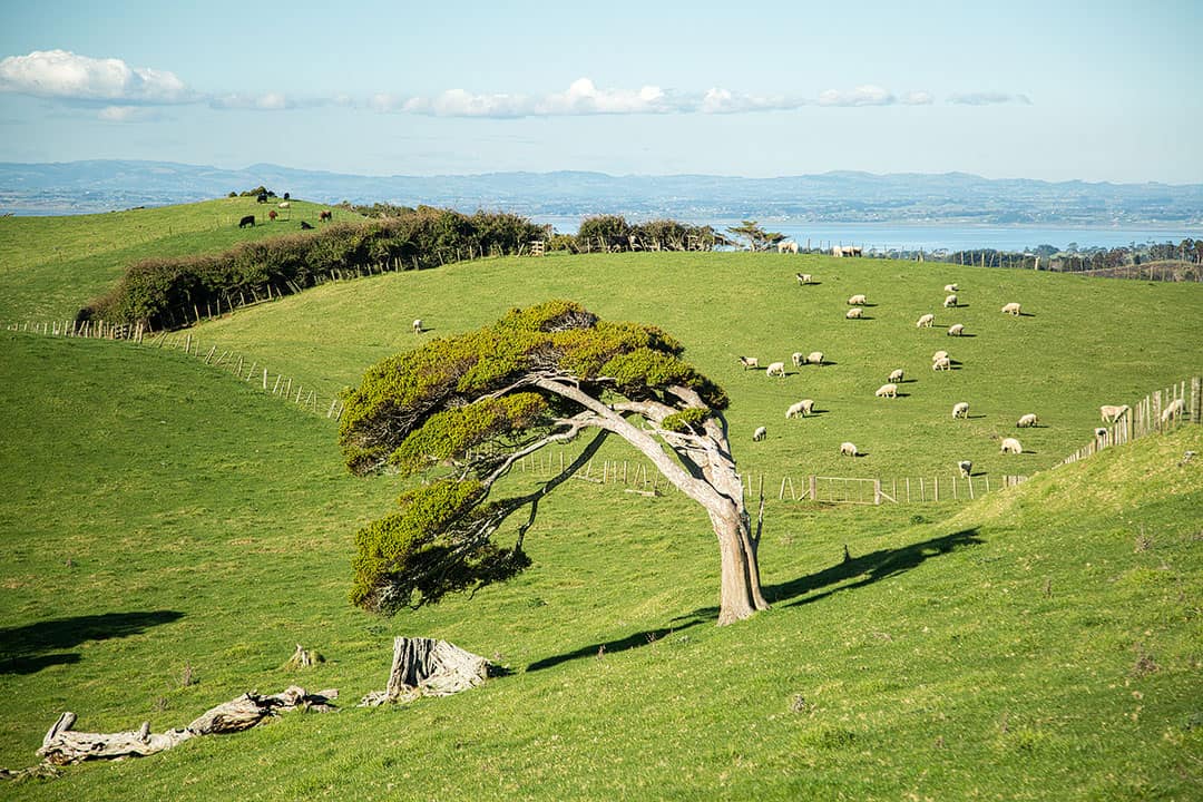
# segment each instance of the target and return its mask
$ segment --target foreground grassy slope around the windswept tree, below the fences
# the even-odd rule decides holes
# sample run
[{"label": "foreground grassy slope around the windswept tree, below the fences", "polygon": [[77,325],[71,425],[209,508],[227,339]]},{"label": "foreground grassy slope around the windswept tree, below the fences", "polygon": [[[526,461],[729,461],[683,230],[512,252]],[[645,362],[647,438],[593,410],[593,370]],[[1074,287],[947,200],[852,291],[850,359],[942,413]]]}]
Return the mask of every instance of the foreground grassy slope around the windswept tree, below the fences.
[{"label": "foreground grassy slope around the windswept tree, below the fences", "polygon": [[[699,510],[571,482],[528,537],[535,569],[378,620],[344,601],[349,530],[392,488],[344,477],[325,421],[170,352],[0,333],[0,355],[4,427],[22,433],[0,444],[0,765],[26,765],[65,708],[111,730],[180,725],[289,682],[350,702],[383,685],[393,634],[448,637],[515,670],[457,697],[78,767],[14,798],[1199,788],[1203,729],[1187,724],[1201,712],[1203,462],[1178,464],[1203,452],[1198,428],[949,521],[772,504],[775,610],[722,630]],[[330,661],[280,670],[298,641]],[[185,665],[198,684],[180,687]]]}]

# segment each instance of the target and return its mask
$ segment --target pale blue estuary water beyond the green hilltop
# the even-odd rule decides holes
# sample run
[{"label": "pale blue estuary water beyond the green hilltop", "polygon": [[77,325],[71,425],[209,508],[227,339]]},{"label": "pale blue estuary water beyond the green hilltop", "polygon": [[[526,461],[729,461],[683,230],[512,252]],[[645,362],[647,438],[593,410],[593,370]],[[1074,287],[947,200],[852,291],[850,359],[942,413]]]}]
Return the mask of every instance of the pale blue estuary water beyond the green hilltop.
[{"label": "pale blue estuary water beyond the green hilltop", "polygon": [[[576,216],[534,216],[535,222],[555,226],[559,233],[576,233],[581,218]],[[729,226],[740,225],[740,220],[710,219],[686,222],[710,225],[725,232]],[[1000,226],[972,224],[925,224],[925,222],[806,222],[801,220],[758,221],[766,231],[786,234],[800,246],[807,242],[812,248],[830,248],[831,245],[860,245],[866,251],[890,250],[971,250],[992,248],[1011,253],[1032,250],[1039,245],[1053,245],[1065,250],[1069,245],[1084,248],[1119,248],[1120,245],[1138,245],[1146,243],[1180,243],[1183,239],[1203,238],[1203,226],[1190,230],[1186,227],[1115,226]]]}]

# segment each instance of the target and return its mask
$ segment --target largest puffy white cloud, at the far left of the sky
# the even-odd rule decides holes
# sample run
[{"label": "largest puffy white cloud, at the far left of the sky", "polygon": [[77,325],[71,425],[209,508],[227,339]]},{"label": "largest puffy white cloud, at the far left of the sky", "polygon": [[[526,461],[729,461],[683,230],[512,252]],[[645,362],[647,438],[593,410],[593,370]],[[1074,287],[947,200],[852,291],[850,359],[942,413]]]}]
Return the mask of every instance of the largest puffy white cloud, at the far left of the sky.
[{"label": "largest puffy white cloud, at the far left of the sky", "polygon": [[34,51],[0,60],[0,91],[63,100],[186,103],[194,93],[173,72],[131,67],[69,51]]}]

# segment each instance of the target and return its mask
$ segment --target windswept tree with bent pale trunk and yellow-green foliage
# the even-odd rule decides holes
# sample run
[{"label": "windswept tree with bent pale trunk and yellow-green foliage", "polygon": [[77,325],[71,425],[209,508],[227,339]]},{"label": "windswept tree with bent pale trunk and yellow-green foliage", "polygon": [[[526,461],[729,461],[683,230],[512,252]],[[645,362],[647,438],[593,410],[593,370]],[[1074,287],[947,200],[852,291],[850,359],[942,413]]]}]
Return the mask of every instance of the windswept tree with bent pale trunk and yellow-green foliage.
[{"label": "windswept tree with bent pale trunk and yellow-green foliage", "polygon": [[[522,571],[539,501],[615,434],[706,510],[718,539],[718,623],[768,608],[759,533],[722,416],[728,399],[683,350],[653,326],[606,322],[551,301],[373,366],[345,398],[346,464],[358,475],[423,473],[427,481],[357,533],[351,600],[391,613]],[[518,459],[577,438],[587,442],[558,476],[504,494],[499,480]],[[523,510],[514,545],[494,542]]]}]

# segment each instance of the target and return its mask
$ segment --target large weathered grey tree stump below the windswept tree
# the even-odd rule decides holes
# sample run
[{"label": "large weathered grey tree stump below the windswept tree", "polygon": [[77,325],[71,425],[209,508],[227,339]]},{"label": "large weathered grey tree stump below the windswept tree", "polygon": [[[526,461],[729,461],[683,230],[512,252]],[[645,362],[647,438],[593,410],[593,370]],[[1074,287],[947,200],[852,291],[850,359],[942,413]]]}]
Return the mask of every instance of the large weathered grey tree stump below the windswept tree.
[{"label": "large weathered grey tree stump below the windswept tree", "polygon": [[479,654],[431,637],[397,637],[385,690],[374,690],[360,707],[408,702],[419,696],[448,696],[488,678],[490,663]]}]

